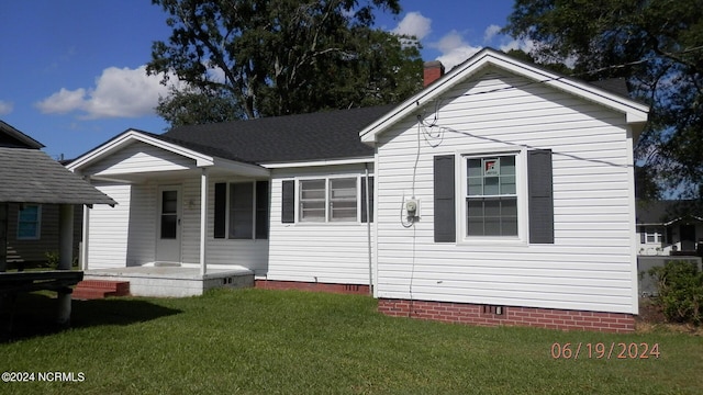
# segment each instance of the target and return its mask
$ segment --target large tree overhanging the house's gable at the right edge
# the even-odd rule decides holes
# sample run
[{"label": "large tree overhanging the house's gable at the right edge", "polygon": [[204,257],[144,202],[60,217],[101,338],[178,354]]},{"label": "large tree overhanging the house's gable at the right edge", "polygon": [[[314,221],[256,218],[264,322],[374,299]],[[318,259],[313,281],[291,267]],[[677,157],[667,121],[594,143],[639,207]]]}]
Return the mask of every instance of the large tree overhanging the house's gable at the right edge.
[{"label": "large tree overhanging the house's gable at the right edge", "polygon": [[703,0],[516,0],[504,32],[583,79],[626,78],[651,108],[636,158],[669,192],[703,199]]}]

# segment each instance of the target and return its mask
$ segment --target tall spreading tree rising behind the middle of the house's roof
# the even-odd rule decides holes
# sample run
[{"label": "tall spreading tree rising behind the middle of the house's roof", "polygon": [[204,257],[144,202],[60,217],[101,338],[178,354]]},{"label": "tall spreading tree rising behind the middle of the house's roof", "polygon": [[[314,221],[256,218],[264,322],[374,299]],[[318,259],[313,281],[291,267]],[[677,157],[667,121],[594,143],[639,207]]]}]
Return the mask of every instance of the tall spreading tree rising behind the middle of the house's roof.
[{"label": "tall spreading tree rising behind the middle of the house's roof", "polygon": [[[397,102],[422,88],[416,46],[373,30],[398,0],[153,0],[170,15],[150,74],[226,92],[246,119]],[[166,77],[168,78],[168,77]]]}]

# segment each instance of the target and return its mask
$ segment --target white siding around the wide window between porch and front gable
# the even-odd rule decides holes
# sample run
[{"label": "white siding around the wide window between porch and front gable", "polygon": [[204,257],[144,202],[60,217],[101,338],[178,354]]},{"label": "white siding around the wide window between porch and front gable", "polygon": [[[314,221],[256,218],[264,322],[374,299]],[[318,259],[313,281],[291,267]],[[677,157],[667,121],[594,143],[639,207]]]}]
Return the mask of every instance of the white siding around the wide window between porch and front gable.
[{"label": "white siding around the wide window between porch and front gable", "polygon": [[[369,172],[372,174],[370,170]],[[369,226],[356,219],[360,208],[357,210],[354,222],[281,222],[283,180],[354,179],[357,182],[356,180],[364,180],[364,165],[274,170],[270,184],[268,280],[369,283]],[[349,189],[346,192],[341,190],[339,198],[348,195],[348,191]],[[357,188],[356,193],[359,194],[359,191]],[[372,224],[370,229],[372,236]]]}]

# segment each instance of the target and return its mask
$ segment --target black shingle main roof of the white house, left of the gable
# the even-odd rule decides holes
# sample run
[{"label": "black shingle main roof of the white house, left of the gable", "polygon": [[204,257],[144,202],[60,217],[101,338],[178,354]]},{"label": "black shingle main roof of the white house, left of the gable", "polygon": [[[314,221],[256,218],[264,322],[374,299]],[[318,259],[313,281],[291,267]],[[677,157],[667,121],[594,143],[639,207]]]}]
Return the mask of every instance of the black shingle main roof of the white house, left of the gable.
[{"label": "black shingle main roof of the white house, left of the gable", "polygon": [[225,159],[271,163],[373,155],[359,132],[393,105],[176,127],[165,142]]}]

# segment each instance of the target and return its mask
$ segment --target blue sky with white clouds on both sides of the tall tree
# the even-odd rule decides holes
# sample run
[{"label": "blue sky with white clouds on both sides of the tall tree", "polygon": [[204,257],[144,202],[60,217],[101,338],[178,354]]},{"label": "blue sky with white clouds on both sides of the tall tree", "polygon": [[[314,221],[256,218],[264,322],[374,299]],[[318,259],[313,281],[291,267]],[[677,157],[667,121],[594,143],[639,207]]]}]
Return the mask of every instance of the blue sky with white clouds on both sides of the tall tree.
[{"label": "blue sky with white clouds on both sides of the tall tree", "polygon": [[[524,47],[495,34],[512,0],[401,0],[377,25],[416,35],[425,60],[447,69],[483,46]],[[0,1],[0,120],[74,158],[129,129],[161,133],[153,109],[166,88],[147,77],[166,14],[147,0]]]}]

